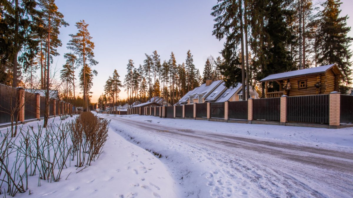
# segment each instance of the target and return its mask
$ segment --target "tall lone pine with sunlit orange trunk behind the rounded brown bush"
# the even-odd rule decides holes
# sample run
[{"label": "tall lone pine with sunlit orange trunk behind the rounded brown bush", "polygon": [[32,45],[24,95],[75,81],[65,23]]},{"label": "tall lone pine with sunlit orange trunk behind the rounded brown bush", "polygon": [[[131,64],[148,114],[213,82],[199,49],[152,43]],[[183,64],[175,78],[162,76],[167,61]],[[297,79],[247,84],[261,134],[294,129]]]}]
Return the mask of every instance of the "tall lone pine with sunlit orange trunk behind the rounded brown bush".
[{"label": "tall lone pine with sunlit orange trunk behind the rounded brown bush", "polygon": [[92,76],[93,78],[92,72],[95,70],[92,71],[91,66],[95,66],[98,62],[94,60],[94,43],[91,41],[92,37],[87,29],[88,24],[86,24],[85,20],[80,20],[76,23],[76,27],[78,32],[75,35],[69,35],[71,36],[71,40],[67,43],[67,48],[77,55],[77,62],[83,66],[80,73],[80,76],[82,76],[82,79],[80,78],[80,85],[83,89],[83,100],[86,104],[83,108],[84,111],[88,111],[89,81],[86,79],[86,76]]}]

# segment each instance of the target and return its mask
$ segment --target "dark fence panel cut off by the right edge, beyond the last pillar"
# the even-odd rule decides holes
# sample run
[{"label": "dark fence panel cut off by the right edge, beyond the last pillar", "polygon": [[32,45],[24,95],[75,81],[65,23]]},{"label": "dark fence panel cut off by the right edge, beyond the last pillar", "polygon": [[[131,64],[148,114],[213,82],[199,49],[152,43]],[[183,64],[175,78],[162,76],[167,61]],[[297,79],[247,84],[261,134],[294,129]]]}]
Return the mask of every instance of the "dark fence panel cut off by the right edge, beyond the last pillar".
[{"label": "dark fence panel cut off by the right edge, beyond the last pillar", "polygon": [[353,95],[341,95],[340,123],[353,123]]}]

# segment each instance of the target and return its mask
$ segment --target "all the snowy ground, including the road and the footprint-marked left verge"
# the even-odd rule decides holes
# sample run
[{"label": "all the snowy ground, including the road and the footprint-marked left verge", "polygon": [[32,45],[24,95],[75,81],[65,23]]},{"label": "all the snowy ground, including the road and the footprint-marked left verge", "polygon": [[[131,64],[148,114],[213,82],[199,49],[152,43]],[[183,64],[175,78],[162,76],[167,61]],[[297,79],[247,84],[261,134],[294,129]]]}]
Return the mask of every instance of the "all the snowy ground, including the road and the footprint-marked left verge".
[{"label": "all the snowy ground, including the road and the footprint-marked left verge", "polygon": [[16,197],[353,197],[353,128],[99,116],[112,121],[92,166]]}]

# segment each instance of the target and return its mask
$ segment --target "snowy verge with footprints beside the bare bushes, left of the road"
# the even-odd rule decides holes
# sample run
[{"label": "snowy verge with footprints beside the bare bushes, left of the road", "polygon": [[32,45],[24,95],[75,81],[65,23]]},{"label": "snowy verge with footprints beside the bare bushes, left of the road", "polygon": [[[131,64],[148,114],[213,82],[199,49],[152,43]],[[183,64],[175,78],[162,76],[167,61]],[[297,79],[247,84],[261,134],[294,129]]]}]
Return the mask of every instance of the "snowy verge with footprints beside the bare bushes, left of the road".
[{"label": "snowy verge with footprints beside the bare bushes, left of the road", "polygon": [[[72,119],[68,118],[66,122]],[[20,126],[36,128],[42,122]],[[60,120],[58,117],[51,118],[49,123],[60,123]],[[4,132],[6,128],[0,130]],[[42,180],[40,187],[37,176],[29,177],[30,191],[18,193],[16,197],[177,197],[177,186],[160,160],[126,141],[112,129],[108,133],[104,153],[92,166],[76,173],[80,169],[71,164],[63,170],[59,182]]]}]

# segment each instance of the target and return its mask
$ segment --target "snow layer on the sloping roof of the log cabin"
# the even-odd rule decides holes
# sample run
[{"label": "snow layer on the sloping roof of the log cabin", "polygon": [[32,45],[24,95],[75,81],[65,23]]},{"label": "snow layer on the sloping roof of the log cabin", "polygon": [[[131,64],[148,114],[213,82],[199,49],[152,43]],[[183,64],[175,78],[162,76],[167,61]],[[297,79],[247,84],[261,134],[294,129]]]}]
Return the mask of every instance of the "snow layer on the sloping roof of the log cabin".
[{"label": "snow layer on the sloping roof of the log cabin", "polygon": [[295,70],[291,72],[283,72],[279,74],[271,74],[267,76],[266,78],[263,78],[260,80],[260,82],[265,82],[265,81],[272,81],[272,80],[281,80],[281,79],[286,79],[289,77],[295,77],[295,76],[301,76],[301,75],[307,75],[307,74],[318,74],[318,73],[324,73],[327,70],[331,69],[334,67],[336,64],[329,64],[329,65],[324,65],[320,67],[312,67],[312,68],[307,68],[307,69],[300,69],[300,70]]}]

